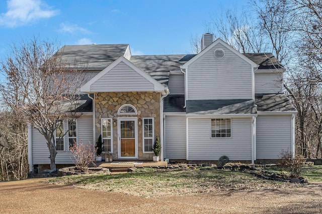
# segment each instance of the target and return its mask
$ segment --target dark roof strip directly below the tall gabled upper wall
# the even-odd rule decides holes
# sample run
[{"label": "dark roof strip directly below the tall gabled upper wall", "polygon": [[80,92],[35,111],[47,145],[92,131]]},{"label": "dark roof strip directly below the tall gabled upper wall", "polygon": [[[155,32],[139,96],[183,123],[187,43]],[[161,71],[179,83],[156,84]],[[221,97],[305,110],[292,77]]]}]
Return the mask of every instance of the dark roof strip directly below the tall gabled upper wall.
[{"label": "dark roof strip directly below the tall gabled upper wall", "polygon": [[187,100],[187,114],[256,114],[254,100]]}]

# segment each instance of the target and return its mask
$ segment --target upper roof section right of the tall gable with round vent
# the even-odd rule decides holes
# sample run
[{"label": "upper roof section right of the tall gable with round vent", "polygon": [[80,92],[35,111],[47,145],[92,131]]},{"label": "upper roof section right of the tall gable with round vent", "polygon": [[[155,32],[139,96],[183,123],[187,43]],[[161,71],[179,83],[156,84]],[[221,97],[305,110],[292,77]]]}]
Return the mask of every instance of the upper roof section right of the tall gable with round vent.
[{"label": "upper roof section right of the tall gable with round vent", "polygon": [[245,53],[243,55],[258,64],[258,69],[283,68],[281,63],[272,53]]}]

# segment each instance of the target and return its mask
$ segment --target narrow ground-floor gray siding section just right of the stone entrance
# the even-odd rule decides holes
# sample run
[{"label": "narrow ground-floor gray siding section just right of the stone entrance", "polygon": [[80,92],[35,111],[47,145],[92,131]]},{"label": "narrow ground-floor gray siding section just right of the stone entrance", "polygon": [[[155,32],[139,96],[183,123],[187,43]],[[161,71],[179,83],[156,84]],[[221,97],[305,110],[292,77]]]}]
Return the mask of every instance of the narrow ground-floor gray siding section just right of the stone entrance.
[{"label": "narrow ground-floor gray siding section just right of the stone entrance", "polygon": [[166,116],[165,158],[187,159],[186,115]]}]

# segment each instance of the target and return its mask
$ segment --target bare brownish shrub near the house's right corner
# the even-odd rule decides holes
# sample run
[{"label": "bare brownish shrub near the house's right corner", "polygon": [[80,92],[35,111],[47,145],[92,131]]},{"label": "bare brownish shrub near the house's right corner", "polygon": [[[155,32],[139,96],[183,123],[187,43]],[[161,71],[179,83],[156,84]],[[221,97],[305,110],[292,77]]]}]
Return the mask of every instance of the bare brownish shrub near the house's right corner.
[{"label": "bare brownish shrub near the house's right corner", "polygon": [[302,155],[296,155],[292,158],[292,154],[289,151],[280,153],[280,167],[290,173],[290,177],[299,177],[305,158]]}]

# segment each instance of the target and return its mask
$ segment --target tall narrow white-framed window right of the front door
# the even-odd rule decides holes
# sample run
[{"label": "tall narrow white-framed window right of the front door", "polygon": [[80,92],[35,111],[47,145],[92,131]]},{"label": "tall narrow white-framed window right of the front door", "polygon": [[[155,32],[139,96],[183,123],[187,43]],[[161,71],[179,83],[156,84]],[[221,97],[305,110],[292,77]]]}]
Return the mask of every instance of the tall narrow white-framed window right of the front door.
[{"label": "tall narrow white-framed window right of the front door", "polygon": [[154,140],[154,118],[143,118],[144,152],[152,152]]}]

